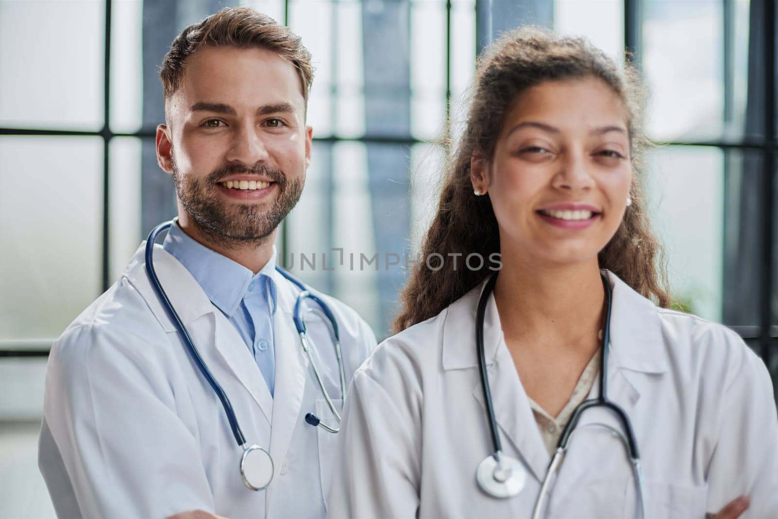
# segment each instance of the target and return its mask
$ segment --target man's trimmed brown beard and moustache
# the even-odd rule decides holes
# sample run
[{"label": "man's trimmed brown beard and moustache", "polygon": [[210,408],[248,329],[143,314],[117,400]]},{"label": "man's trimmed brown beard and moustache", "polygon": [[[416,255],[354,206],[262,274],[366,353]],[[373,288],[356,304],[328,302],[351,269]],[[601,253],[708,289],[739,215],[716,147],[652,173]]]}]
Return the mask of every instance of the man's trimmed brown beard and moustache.
[{"label": "man's trimmed brown beard and moustache", "polygon": [[[275,201],[267,204],[226,202],[216,183],[235,174],[261,175],[275,182]],[[303,182],[289,181],[281,170],[258,163],[253,168],[231,165],[213,171],[205,179],[181,174],[173,157],[173,183],[181,205],[199,230],[224,247],[262,244],[300,200]]]}]

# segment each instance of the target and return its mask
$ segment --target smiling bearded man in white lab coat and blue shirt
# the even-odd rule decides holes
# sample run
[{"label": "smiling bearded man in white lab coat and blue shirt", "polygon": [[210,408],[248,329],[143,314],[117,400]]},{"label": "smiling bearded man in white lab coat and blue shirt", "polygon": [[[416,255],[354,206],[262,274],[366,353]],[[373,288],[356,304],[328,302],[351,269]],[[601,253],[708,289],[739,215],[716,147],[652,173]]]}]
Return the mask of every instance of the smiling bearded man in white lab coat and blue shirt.
[{"label": "smiling bearded man in white lab coat and blue shirt", "polygon": [[[143,246],[51,350],[40,471],[60,517],[323,517],[337,435],[304,417],[338,419],[293,322],[301,290],[275,269],[273,247],[310,161],[310,54],[267,16],[228,8],[187,27],[160,75],[156,149],[178,219],[153,266],[246,444],[269,452],[272,481],[244,484],[244,447],[152,288]],[[317,295],[335,314],[348,384],[375,338],[353,310]],[[330,321],[311,299],[302,308],[339,412]]]}]

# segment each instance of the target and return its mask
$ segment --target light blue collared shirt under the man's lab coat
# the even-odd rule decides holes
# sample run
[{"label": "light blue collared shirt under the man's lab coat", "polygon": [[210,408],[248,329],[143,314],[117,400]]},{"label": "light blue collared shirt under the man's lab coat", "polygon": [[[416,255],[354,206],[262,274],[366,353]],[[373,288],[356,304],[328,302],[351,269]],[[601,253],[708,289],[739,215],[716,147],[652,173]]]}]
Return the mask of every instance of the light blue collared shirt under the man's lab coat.
[{"label": "light blue collared shirt under the man's lab coat", "polygon": [[270,395],[275,389],[273,315],[278,293],[271,274],[276,251],[256,275],[189,237],[175,223],[163,248],[187,268],[205,295],[230,320],[254,356]]}]

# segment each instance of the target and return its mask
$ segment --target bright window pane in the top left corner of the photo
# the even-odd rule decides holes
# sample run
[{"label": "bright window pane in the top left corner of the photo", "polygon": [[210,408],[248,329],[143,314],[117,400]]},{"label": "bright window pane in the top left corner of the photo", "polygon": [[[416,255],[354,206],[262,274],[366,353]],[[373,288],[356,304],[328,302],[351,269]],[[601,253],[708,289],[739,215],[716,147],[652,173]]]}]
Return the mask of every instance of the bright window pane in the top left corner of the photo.
[{"label": "bright window pane in the top left corner of the photo", "polygon": [[0,125],[102,128],[104,21],[104,2],[0,2]]}]

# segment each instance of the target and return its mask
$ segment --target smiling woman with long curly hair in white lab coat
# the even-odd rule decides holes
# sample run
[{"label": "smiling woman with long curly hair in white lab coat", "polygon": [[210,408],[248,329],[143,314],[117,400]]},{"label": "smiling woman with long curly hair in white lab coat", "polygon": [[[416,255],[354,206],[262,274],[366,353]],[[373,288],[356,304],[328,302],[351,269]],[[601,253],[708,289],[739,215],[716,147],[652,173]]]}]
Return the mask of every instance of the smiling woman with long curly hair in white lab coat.
[{"label": "smiling woman with long curly hair in white lab coat", "polygon": [[[584,40],[518,30],[481,58],[424,244],[440,256],[354,377],[330,517],[530,517],[549,472],[538,517],[641,517],[640,495],[645,517],[778,517],[765,366],[727,328],[668,310],[640,188],[643,100],[633,69]],[[549,471],[573,409],[600,394],[604,354],[640,492],[612,409],[584,412]]]}]

